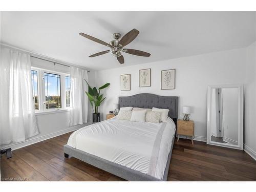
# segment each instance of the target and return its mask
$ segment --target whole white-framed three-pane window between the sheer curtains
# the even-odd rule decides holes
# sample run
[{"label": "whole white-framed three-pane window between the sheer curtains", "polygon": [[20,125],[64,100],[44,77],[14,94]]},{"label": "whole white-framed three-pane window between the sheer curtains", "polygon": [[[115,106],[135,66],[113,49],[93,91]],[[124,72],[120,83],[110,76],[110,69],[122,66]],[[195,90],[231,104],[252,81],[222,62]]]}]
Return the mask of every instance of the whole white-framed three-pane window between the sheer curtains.
[{"label": "whole white-framed three-pane window between the sheer curtains", "polygon": [[70,107],[70,76],[68,73],[32,67],[31,79],[36,113],[58,111]]}]

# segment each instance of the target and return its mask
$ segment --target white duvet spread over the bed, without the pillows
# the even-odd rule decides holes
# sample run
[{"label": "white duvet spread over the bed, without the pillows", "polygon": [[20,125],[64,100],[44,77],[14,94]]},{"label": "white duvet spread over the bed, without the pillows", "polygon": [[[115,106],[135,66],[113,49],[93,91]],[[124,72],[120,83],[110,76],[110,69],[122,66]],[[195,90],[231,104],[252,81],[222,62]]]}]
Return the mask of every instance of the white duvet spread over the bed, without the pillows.
[{"label": "white duvet spread over the bed, without the pillows", "polygon": [[114,117],[75,131],[68,145],[162,179],[174,134],[170,118],[150,123]]}]

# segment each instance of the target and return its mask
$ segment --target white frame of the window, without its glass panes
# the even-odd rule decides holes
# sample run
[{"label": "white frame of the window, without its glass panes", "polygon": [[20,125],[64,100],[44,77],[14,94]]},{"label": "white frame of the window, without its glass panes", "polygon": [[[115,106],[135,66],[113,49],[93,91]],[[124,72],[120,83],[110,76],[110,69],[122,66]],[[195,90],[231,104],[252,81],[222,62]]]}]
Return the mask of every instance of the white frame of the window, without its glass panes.
[{"label": "white frame of the window, without its glass panes", "polygon": [[[52,113],[57,111],[69,110],[66,103],[66,76],[70,77],[70,74],[41,69],[37,67],[31,67],[31,70],[37,71],[37,89],[38,89],[38,107],[39,110],[35,110],[35,113]],[[60,98],[61,98],[61,108],[46,109],[46,94],[45,94],[45,73],[51,73],[55,75],[60,75]]]}]

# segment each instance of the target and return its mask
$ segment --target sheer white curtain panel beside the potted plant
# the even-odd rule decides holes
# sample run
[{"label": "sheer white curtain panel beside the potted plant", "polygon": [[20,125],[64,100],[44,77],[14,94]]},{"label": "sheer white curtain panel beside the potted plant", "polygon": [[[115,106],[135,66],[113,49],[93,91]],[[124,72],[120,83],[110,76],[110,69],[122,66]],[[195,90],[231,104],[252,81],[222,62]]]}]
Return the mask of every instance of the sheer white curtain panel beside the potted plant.
[{"label": "sheer white curtain panel beside the potted plant", "polygon": [[88,71],[70,67],[70,126],[87,123]]}]

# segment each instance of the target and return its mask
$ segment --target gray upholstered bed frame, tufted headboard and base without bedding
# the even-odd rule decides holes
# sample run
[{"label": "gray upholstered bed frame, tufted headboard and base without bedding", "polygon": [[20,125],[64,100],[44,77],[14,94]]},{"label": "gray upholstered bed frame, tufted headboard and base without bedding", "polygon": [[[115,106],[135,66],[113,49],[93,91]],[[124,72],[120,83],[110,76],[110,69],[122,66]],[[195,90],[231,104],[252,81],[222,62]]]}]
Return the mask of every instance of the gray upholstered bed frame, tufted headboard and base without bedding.
[{"label": "gray upholstered bed frame, tufted headboard and base without bedding", "polygon": [[[134,108],[162,108],[169,109],[168,116],[172,118],[177,123],[178,118],[178,97],[172,96],[159,96],[149,93],[142,93],[133,96],[119,97],[118,109],[125,106],[133,106]],[[176,135],[176,134],[175,134]],[[66,158],[72,156],[74,158],[80,159],[86,163],[96,166],[106,172],[114,174],[128,181],[167,181],[170,157],[172,156],[173,145],[175,140],[175,135],[172,138],[172,147],[168,155],[168,160],[164,170],[163,179],[157,179],[147,174],[143,174],[138,170],[134,170],[117,163],[102,159],[98,156],[77,150],[69,145],[64,145],[64,155]]]}]

